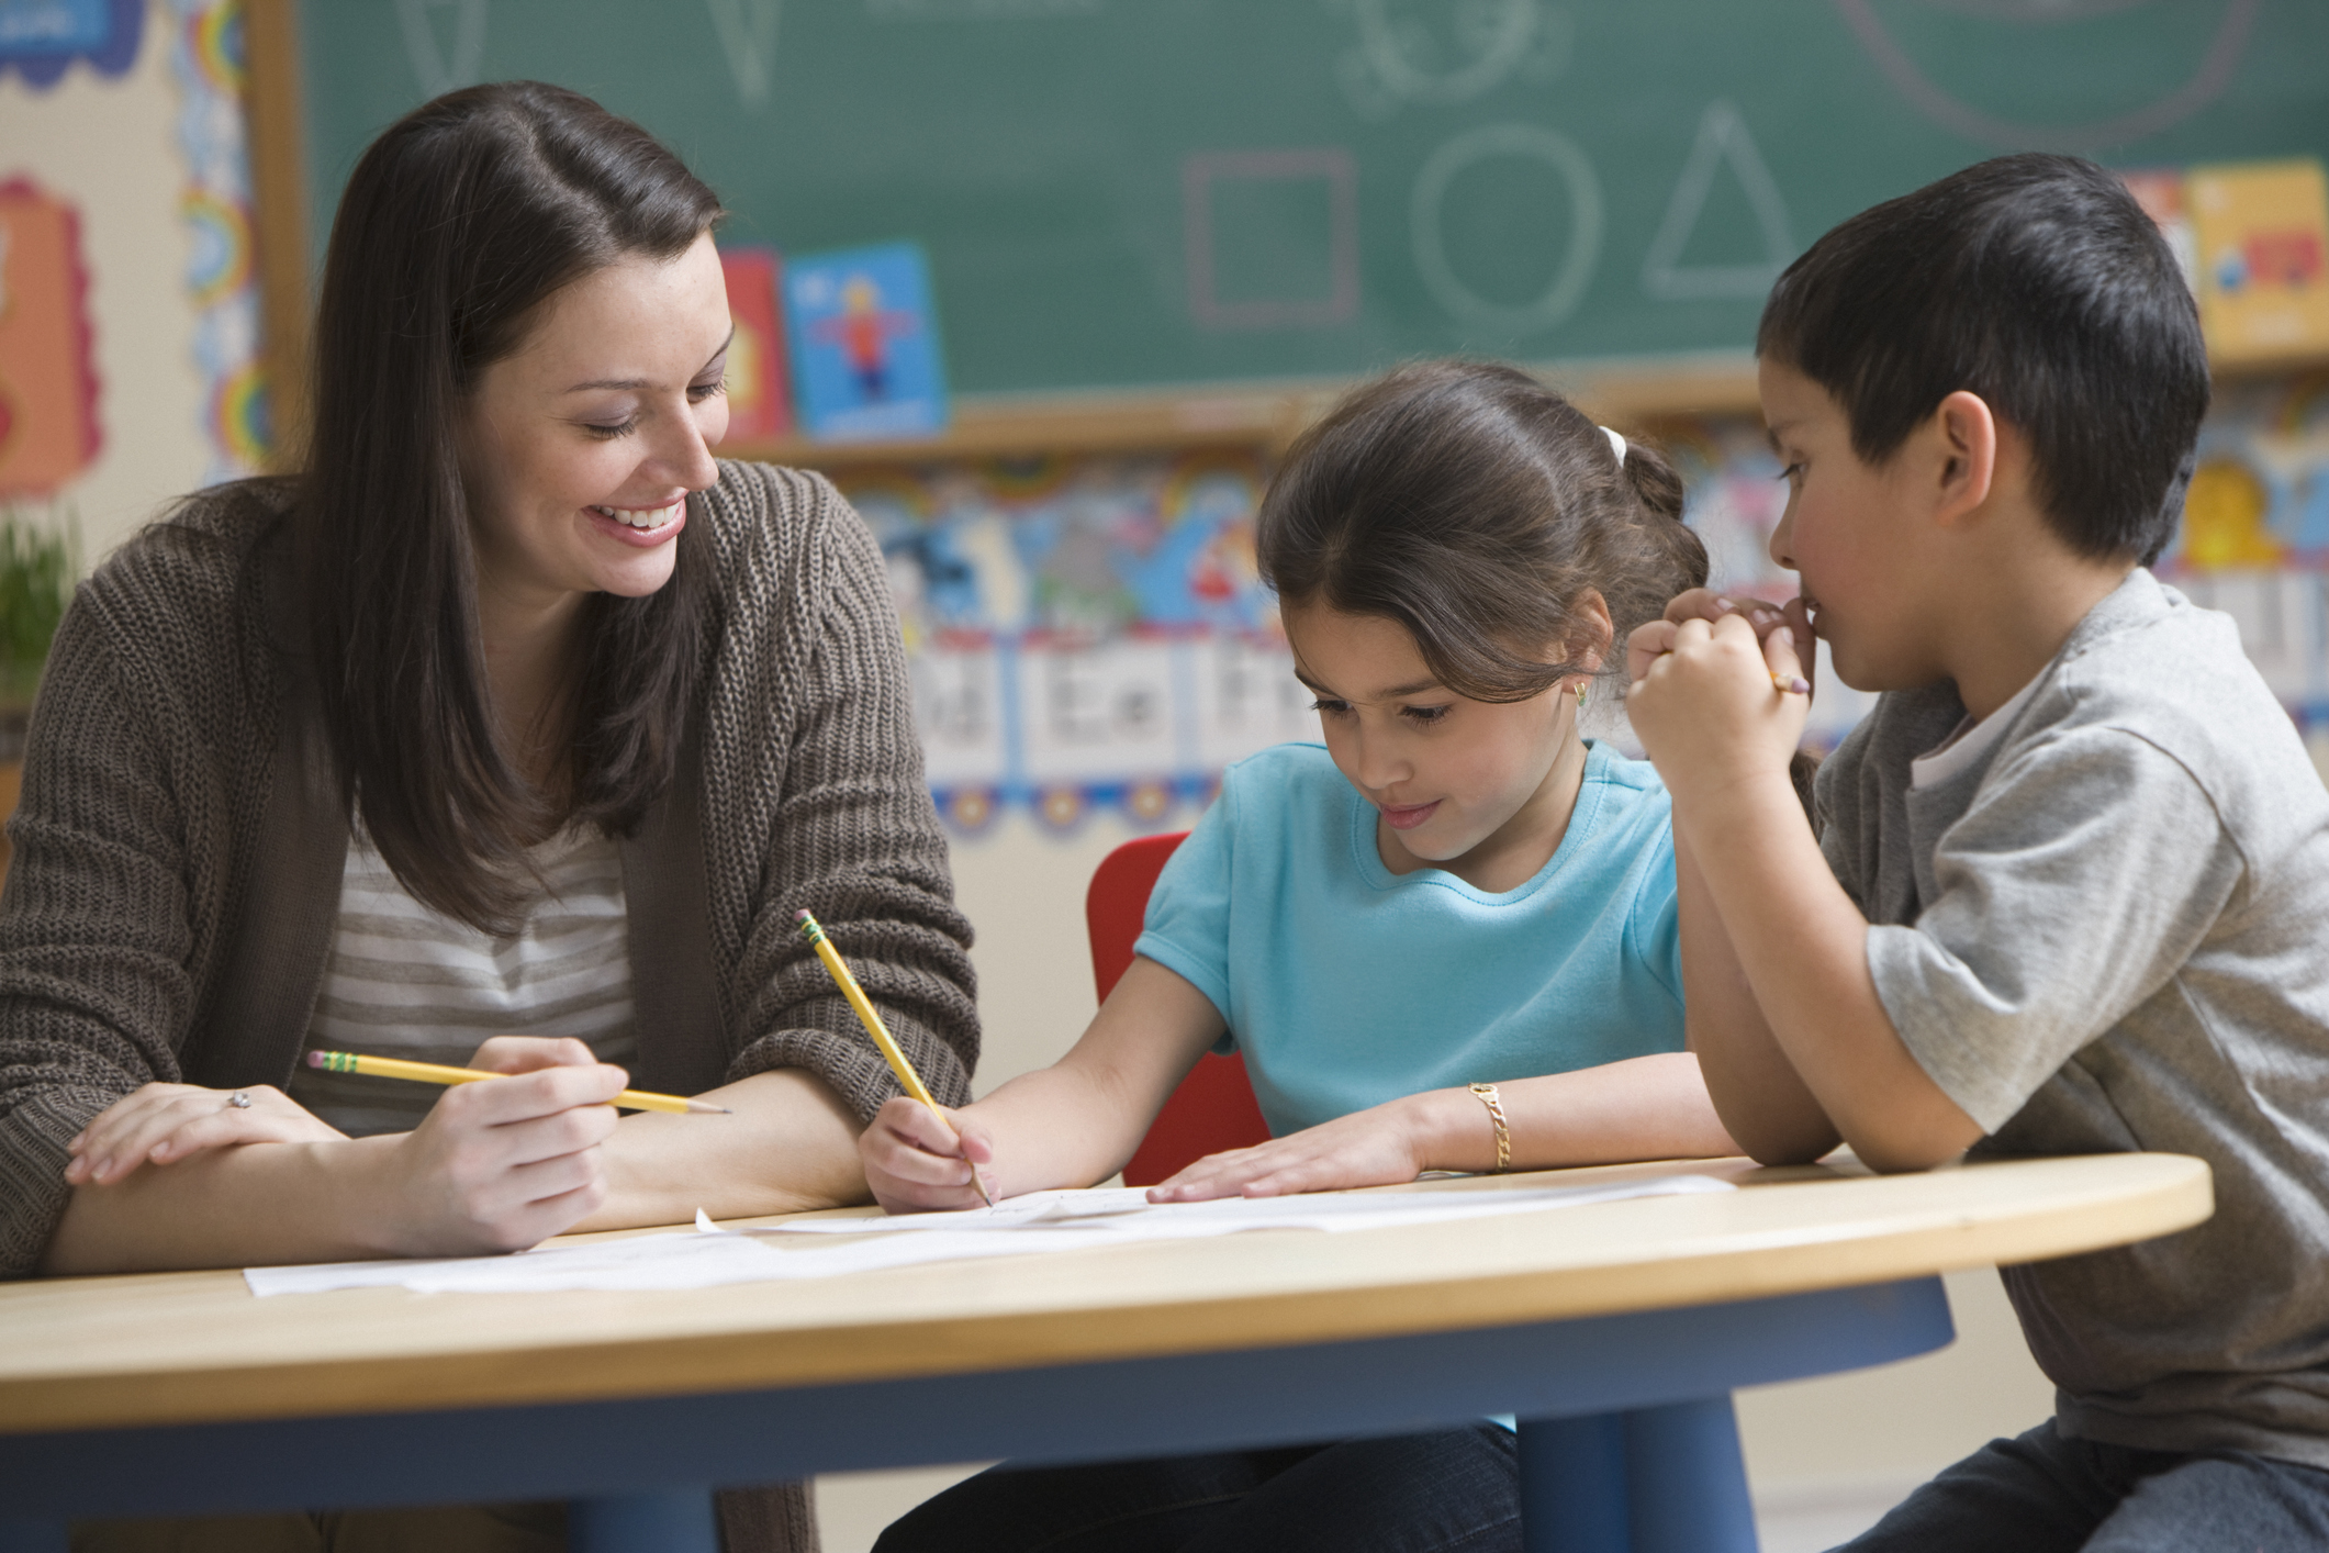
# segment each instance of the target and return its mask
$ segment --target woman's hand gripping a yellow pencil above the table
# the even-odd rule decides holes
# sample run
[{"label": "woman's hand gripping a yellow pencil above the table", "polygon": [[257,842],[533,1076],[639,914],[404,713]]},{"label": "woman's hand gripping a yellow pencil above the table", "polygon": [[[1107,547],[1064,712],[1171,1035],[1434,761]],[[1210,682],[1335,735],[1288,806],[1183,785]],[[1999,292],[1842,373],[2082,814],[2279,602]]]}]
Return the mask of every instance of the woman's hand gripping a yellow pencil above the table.
[{"label": "woman's hand gripping a yellow pencil above the table", "polygon": [[510,1073],[452,1085],[396,1141],[382,1187],[405,1255],[519,1250],[606,1201],[599,1146],[631,1083],[580,1041],[496,1036],[470,1066]]}]

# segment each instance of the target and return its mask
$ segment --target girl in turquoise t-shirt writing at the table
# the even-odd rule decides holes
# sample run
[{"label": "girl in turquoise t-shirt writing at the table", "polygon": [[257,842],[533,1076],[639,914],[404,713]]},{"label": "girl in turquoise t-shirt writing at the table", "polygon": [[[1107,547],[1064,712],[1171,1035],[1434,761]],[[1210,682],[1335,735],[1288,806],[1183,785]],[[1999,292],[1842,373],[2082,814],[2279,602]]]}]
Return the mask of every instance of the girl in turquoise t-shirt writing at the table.
[{"label": "girl in turquoise t-shirt writing at the table", "polygon": [[[1295,445],[1258,540],[1325,745],[1230,771],[1092,1027],[957,1111],[960,1150],[883,1106],[876,1199],[974,1206],[974,1169],[994,1197],[1104,1180],[1220,1043],[1274,1141],[1158,1201],[1737,1153],[1682,1050],[1665,789],[1577,733],[1614,643],[1705,582],[1665,461],[1525,373],[1414,366]],[[1519,1546],[1514,1444],[997,1469],[880,1546]]]}]

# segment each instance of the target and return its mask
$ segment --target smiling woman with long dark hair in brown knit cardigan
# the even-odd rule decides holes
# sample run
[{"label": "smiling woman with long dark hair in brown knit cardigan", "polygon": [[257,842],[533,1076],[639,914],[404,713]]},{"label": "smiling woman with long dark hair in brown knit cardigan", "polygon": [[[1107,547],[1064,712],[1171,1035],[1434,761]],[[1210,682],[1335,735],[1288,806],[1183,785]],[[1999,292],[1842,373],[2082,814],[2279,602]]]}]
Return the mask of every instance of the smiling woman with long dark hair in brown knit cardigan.
[{"label": "smiling woman with long dark hair in brown knit cardigan", "polygon": [[[894,1083],[804,906],[967,1099],[878,547],[822,480],[708,452],[720,214],[540,84],[366,151],[305,473],[189,498],[56,638],[0,903],[0,1271],[862,1201]],[[512,1078],[307,1078],[345,1045]],[[731,1115],[617,1122],[627,1080]]]}]

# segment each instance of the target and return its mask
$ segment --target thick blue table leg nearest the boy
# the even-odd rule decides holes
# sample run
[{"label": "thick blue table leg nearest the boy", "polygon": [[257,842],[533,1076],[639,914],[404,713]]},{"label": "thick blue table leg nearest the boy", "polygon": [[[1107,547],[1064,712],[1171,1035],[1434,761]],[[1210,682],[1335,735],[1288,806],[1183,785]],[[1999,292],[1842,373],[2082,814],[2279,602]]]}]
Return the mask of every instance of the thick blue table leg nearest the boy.
[{"label": "thick blue table leg nearest the boy", "polygon": [[1756,1553],[1730,1397],[1521,1423],[1528,1553]]}]

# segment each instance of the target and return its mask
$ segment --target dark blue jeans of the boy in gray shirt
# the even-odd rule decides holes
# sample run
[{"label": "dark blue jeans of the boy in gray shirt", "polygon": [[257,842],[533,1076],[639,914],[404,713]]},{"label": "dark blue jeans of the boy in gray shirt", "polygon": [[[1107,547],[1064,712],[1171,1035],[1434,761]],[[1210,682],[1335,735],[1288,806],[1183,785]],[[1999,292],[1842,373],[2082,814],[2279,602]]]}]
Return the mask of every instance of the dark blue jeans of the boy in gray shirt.
[{"label": "dark blue jeans of the boy in gray shirt", "polygon": [[2278,1553],[2329,1548],[2329,1472],[2245,1451],[2175,1455],[1994,1439],[1912,1492],[1847,1553]]}]

